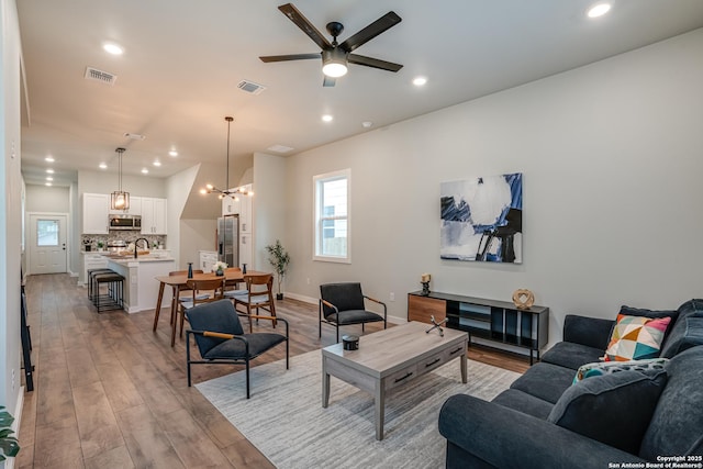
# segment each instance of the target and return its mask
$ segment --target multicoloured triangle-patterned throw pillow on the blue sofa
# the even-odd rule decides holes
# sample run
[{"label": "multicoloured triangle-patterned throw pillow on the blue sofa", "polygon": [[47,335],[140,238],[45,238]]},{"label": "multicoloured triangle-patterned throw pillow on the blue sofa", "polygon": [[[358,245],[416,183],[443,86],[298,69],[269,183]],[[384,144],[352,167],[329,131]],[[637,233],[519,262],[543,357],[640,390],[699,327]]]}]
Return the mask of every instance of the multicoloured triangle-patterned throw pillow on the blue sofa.
[{"label": "multicoloured triangle-patterned throw pillow on the blue sofa", "polygon": [[650,319],[617,315],[605,361],[628,361],[659,356],[671,317]]}]

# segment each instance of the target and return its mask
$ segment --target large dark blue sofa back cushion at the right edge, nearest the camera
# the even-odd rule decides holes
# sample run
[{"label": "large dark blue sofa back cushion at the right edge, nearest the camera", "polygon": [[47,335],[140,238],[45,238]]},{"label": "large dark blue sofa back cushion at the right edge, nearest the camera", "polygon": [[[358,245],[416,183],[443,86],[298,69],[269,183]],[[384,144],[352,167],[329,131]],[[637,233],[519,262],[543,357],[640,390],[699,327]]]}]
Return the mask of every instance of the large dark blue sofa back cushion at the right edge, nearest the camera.
[{"label": "large dark blue sofa back cushion at the right edge, nearest the camera", "polygon": [[673,357],[667,373],[669,380],[644,436],[639,456],[656,460],[661,455],[702,455],[703,347],[692,347]]}]

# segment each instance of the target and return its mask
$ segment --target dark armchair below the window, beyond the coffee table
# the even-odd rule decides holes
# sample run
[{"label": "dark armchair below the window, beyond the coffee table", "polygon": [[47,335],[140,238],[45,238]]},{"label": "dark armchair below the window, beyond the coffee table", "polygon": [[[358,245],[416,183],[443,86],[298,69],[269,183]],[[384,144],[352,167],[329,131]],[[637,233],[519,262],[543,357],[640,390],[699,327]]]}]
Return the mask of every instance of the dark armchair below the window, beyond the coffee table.
[{"label": "dark armchair below the window, beyond the coffee table", "polygon": [[[339,342],[339,326],[350,324],[364,324],[383,321],[383,328],[388,324],[388,311],[386,303],[361,293],[361,283],[325,283],[320,286],[319,333],[322,337],[322,323],[330,324],[337,330]],[[368,311],[364,300],[369,300],[383,306],[383,315]]]}]

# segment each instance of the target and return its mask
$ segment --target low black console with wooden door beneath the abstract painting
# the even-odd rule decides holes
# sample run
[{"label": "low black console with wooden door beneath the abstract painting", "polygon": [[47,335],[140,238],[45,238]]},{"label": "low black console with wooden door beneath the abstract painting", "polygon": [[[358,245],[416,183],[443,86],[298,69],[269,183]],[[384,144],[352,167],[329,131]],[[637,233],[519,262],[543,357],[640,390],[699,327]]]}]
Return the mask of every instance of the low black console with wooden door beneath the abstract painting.
[{"label": "low black console with wooden door beneath the abstract painting", "polygon": [[464,297],[460,294],[421,291],[408,293],[408,321],[431,323],[447,319],[447,327],[465,331],[471,336],[529,349],[529,365],[549,338],[549,308],[521,310],[513,303]]}]

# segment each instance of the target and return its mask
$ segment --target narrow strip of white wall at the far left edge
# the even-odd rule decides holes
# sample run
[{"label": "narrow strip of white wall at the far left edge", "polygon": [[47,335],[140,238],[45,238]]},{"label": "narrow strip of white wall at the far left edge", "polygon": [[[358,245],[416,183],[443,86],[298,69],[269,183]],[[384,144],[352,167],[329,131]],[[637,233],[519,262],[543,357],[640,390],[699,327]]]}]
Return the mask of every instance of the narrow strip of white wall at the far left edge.
[{"label": "narrow strip of white wall at the far left edge", "polygon": [[[20,31],[14,0],[0,0],[0,405],[15,414],[20,380]],[[12,376],[14,373],[14,382]]]}]

